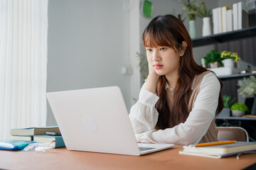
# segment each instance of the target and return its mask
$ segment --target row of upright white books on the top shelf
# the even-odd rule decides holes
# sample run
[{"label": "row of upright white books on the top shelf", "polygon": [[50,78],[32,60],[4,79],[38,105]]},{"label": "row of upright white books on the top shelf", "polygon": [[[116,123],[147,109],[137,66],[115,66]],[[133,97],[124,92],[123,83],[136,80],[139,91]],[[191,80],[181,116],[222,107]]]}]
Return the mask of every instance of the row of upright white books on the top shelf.
[{"label": "row of upright white books on the top shelf", "polygon": [[248,27],[248,10],[244,2],[233,4],[232,8],[213,8],[213,34],[240,30]]}]

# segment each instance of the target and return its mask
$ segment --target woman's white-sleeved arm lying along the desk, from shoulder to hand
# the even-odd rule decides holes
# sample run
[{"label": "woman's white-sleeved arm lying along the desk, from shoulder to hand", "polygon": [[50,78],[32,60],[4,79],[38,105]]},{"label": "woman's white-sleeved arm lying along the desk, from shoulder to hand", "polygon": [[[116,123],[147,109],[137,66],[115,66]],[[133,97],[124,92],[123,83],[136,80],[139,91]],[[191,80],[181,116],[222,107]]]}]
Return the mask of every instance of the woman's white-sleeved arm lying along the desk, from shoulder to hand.
[{"label": "woman's white-sleeved arm lying along the desk, from shoulder to hand", "polygon": [[166,130],[149,130],[136,134],[138,142],[174,143],[189,145],[198,143],[206,134],[210,123],[215,117],[218,106],[220,83],[215,74],[209,73],[203,77],[200,91],[196,97],[193,109],[185,123]]}]

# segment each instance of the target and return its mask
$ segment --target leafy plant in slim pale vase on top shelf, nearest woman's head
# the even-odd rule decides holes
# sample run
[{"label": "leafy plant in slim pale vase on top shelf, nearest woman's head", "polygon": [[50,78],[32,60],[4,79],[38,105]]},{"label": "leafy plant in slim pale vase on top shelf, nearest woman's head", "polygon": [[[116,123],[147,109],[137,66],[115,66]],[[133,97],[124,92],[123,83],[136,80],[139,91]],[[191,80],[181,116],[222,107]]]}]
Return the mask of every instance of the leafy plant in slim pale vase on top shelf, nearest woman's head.
[{"label": "leafy plant in slim pale vase on top shelf, nearest woman's head", "polygon": [[187,3],[181,0],[177,0],[179,4],[183,7],[183,10],[188,14],[188,24],[189,24],[189,35],[191,38],[196,38],[196,15],[198,13],[198,8],[196,7],[196,1],[188,0]]}]

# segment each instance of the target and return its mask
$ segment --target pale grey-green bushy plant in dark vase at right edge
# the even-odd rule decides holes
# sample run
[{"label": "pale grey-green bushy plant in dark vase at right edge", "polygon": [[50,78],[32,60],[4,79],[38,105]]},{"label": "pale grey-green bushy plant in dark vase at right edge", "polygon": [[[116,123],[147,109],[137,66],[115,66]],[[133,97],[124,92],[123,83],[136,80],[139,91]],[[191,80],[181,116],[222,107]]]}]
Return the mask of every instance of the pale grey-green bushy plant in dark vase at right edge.
[{"label": "pale grey-green bushy plant in dark vase at right edge", "polygon": [[238,81],[238,92],[242,97],[254,97],[252,104],[251,114],[256,115],[256,79],[254,76],[249,78],[244,77],[244,79]]}]

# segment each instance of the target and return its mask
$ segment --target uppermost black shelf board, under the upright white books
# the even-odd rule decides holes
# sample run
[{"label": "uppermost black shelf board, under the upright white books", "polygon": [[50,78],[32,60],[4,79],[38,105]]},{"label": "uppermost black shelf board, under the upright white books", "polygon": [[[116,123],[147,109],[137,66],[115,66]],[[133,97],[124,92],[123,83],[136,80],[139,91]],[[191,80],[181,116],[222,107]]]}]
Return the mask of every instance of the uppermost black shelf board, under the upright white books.
[{"label": "uppermost black shelf board, under the upright white books", "polygon": [[215,43],[229,42],[233,40],[239,40],[244,38],[252,38],[256,36],[256,26],[250,28],[244,28],[241,30],[234,30],[227,33],[219,33],[214,35],[208,35],[199,38],[193,38],[193,47],[200,47],[204,45],[213,45]]}]

